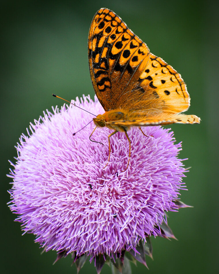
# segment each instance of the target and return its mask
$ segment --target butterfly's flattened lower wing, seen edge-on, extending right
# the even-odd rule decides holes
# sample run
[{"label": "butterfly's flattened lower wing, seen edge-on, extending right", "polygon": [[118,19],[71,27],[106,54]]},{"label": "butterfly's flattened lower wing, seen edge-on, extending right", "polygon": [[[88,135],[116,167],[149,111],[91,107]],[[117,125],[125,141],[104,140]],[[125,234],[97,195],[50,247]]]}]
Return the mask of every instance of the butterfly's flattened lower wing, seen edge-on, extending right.
[{"label": "butterfly's flattened lower wing, seen edge-on, extending right", "polygon": [[170,114],[162,113],[162,115],[155,117],[148,117],[147,119],[133,119],[133,120],[117,120],[117,121],[108,121],[107,125],[120,125],[120,126],[150,126],[150,125],[166,125],[173,123],[182,123],[182,124],[194,124],[200,123],[200,118],[196,115],[184,115],[184,114]]}]

